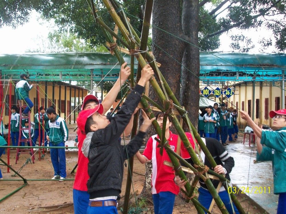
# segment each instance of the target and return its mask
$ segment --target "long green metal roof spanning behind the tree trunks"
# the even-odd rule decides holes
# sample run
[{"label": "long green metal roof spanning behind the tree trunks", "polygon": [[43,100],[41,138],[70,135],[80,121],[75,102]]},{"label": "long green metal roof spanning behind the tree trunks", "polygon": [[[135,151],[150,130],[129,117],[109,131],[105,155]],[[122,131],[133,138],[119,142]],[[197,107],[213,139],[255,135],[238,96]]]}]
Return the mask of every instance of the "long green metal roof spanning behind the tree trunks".
[{"label": "long green metal roof spanning behind the tree trunks", "polygon": [[[130,64],[130,56],[122,55]],[[93,74],[93,80],[99,81],[110,71],[104,80],[116,80],[119,70],[117,58],[110,53],[0,54],[3,79],[18,80],[27,72],[31,80],[90,80]],[[277,80],[285,70],[286,54],[200,53],[200,79],[204,81],[247,81],[254,73],[265,80]]]}]

